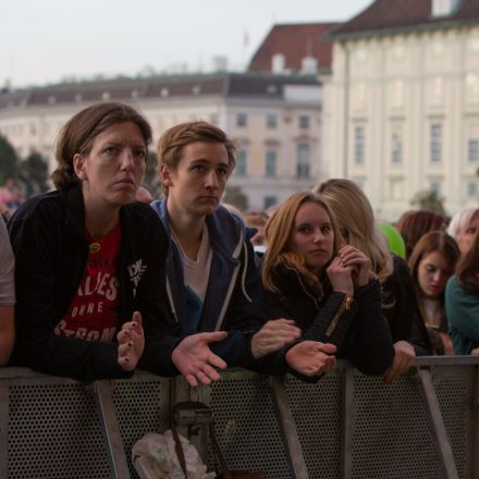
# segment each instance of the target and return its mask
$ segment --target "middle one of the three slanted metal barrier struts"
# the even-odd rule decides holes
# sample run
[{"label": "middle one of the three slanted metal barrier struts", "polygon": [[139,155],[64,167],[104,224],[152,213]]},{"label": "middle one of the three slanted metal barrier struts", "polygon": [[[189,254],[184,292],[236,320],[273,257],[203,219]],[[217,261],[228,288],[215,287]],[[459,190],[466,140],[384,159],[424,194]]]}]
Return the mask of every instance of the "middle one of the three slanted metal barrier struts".
[{"label": "middle one of the three slanted metal barrier struts", "polygon": [[282,378],[277,376],[271,377],[270,393],[292,477],[296,479],[308,479],[308,469],[306,468],[303,450],[297,435],[296,423],[293,418],[293,413],[290,407]]}]

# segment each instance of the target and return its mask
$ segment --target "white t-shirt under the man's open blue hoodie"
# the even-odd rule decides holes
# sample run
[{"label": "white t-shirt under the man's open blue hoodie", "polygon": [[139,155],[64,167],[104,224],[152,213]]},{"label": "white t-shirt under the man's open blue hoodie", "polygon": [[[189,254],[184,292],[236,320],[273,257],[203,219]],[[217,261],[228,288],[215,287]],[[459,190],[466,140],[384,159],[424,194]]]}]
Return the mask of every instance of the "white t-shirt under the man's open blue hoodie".
[{"label": "white t-shirt under the man's open blue hoodie", "polygon": [[197,330],[201,317],[206,291],[208,288],[211,260],[213,256],[209,242],[208,228],[206,224],[202,228],[201,243],[199,245],[196,260],[186,256],[173,231],[171,231],[171,237],[179,248],[183,265],[183,279],[186,294],[188,296],[187,315],[193,329]]}]

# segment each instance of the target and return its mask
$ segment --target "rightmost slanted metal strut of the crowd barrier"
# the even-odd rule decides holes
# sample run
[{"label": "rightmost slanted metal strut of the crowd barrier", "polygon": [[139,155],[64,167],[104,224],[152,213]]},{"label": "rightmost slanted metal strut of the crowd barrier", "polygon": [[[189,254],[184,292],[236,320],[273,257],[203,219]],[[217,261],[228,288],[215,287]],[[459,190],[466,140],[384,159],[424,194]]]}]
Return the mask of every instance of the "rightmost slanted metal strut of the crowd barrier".
[{"label": "rightmost slanted metal strut of the crowd barrier", "polygon": [[458,479],[453,450],[445,430],[444,420],[439,407],[438,396],[435,395],[432,383],[431,371],[418,368],[419,384],[422,397],[426,403],[431,435],[434,441],[435,451],[441,462],[441,472],[444,479]]}]

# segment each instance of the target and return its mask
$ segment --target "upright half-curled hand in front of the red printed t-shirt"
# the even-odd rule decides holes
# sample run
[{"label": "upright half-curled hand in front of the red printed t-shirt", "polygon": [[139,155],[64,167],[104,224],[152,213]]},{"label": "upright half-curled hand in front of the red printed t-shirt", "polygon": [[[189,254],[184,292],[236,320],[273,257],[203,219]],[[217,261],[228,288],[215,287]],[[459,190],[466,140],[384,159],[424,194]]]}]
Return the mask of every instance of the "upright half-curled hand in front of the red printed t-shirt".
[{"label": "upright half-curled hand in front of the red printed t-shirt", "polygon": [[116,334],[118,363],[125,371],[133,371],[145,348],[142,315],[135,311],[132,320],[122,326]]}]

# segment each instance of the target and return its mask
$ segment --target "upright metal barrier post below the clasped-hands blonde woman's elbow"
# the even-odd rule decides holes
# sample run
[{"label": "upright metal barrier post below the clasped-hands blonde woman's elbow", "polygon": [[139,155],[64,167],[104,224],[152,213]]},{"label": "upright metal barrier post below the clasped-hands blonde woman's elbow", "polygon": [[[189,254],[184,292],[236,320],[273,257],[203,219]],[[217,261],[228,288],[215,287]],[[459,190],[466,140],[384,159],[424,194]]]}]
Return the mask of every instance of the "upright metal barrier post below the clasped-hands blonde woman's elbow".
[{"label": "upright metal barrier post below the clasped-hands blonde woman's elbow", "polygon": [[341,397],[341,479],[349,479],[353,471],[353,432],[354,432],[354,372],[343,371]]}]

